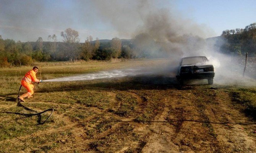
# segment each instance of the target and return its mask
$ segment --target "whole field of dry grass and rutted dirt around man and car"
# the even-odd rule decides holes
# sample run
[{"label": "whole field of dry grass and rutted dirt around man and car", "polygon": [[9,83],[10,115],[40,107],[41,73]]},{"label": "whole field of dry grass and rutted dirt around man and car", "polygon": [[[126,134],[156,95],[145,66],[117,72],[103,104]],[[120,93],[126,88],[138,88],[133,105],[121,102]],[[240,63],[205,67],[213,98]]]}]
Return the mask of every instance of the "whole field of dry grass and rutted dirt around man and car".
[{"label": "whole field of dry grass and rutted dirt around man and car", "polygon": [[[42,80],[143,67],[154,73],[35,84],[34,97],[22,104],[38,112],[53,108],[52,117],[39,125],[37,116],[0,113],[0,152],[256,152],[256,86],[181,87],[165,69],[171,64],[37,63]],[[0,112],[31,113],[16,105],[31,68],[0,69]]]}]

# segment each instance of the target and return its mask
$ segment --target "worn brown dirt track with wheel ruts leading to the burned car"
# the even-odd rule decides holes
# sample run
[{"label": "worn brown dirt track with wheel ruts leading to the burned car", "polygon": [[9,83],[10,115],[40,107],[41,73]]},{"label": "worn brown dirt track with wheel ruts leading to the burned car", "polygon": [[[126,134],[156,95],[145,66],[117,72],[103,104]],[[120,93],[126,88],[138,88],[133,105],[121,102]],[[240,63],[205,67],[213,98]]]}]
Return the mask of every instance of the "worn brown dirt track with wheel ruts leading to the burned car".
[{"label": "worn brown dirt track with wheel ruts leading to the burned car", "polygon": [[234,109],[226,92],[204,93],[170,91],[149,126],[152,132],[143,152],[255,152],[255,123]]}]

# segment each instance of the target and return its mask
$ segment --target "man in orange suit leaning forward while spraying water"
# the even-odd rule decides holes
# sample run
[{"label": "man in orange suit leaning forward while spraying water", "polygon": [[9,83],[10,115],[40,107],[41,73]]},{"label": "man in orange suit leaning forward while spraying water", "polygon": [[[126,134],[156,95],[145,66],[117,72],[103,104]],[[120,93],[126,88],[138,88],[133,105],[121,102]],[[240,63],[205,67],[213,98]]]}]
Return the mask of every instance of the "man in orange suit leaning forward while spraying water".
[{"label": "man in orange suit leaning forward while spraying water", "polygon": [[26,75],[22,78],[21,80],[21,85],[24,86],[24,88],[27,89],[27,93],[24,93],[23,95],[19,96],[18,99],[24,102],[24,98],[28,97],[33,97],[32,94],[34,93],[33,88],[34,85],[32,82],[42,82],[42,80],[38,80],[36,78],[36,73],[38,71],[37,67],[33,67],[32,70],[26,73]]}]

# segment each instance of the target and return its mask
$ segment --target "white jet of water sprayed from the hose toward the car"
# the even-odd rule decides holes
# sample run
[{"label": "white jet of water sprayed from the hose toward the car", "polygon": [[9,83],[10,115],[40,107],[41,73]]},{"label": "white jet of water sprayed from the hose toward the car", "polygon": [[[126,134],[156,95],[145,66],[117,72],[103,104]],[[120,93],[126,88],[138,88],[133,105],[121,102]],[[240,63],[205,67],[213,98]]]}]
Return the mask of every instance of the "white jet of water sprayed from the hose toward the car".
[{"label": "white jet of water sprayed from the hose toward the car", "polygon": [[71,77],[55,78],[50,80],[44,80],[44,82],[59,82],[59,81],[80,81],[80,80],[94,80],[103,78],[117,78],[135,76],[140,74],[151,74],[152,72],[143,72],[141,69],[125,69],[125,70],[112,70],[101,71],[98,73],[82,74]]}]

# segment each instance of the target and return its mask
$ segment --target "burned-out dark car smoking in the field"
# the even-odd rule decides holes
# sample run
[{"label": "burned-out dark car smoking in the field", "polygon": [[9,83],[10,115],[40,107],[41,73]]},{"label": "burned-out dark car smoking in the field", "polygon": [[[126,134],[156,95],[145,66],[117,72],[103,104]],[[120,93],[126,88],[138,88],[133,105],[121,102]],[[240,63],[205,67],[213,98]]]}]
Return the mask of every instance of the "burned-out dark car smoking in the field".
[{"label": "burned-out dark car smoking in the field", "polygon": [[208,84],[213,84],[214,66],[207,63],[209,60],[205,56],[183,57],[176,78],[180,84],[190,79],[207,79]]}]

